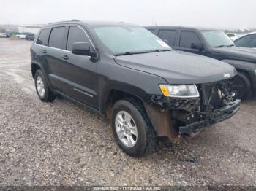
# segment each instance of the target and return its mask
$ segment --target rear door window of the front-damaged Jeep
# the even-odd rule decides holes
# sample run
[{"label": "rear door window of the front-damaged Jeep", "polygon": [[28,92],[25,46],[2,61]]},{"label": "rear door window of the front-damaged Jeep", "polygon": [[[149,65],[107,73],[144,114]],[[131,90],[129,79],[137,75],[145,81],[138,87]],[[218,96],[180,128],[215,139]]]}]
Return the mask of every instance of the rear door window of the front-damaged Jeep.
[{"label": "rear door window of the front-damaged Jeep", "polygon": [[49,46],[65,50],[65,27],[55,27],[50,33]]}]

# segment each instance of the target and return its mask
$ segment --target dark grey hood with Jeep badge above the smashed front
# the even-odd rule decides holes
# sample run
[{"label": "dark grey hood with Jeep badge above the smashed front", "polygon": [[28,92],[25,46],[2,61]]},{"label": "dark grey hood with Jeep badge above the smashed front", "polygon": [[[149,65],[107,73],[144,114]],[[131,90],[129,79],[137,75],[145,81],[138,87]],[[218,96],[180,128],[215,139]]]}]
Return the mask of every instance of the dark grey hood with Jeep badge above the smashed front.
[{"label": "dark grey hood with Jeep badge above the smashed front", "polygon": [[170,84],[216,82],[236,74],[227,63],[181,51],[120,55],[114,60],[121,66],[162,77]]}]

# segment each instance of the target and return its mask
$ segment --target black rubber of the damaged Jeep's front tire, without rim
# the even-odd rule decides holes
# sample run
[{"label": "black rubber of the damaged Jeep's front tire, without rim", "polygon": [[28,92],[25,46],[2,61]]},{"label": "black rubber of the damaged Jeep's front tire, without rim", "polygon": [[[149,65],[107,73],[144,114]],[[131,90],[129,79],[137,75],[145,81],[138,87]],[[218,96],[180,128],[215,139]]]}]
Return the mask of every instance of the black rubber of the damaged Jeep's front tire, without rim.
[{"label": "black rubber of the damaged Jeep's front tire, without rim", "polygon": [[[116,115],[118,112],[127,112],[137,126],[137,141],[133,147],[127,147],[116,132]],[[111,127],[118,146],[132,157],[141,157],[154,151],[157,144],[157,135],[148,121],[143,106],[133,100],[120,100],[114,104],[111,114]]]}]

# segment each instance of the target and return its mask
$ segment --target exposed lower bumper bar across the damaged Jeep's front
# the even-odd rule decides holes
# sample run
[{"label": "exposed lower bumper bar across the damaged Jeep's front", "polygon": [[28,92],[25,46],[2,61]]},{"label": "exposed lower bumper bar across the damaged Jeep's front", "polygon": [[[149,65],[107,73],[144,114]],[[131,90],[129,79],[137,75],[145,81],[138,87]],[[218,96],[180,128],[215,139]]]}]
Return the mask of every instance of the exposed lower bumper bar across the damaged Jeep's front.
[{"label": "exposed lower bumper bar across the damaged Jeep's front", "polygon": [[210,125],[222,122],[230,117],[232,117],[236,112],[238,112],[241,101],[236,100],[230,102],[226,106],[216,109],[212,112],[208,112],[205,115],[205,120],[200,120],[198,122],[193,122],[191,124],[179,127],[179,133],[192,133],[197,132],[200,129],[208,128]]}]

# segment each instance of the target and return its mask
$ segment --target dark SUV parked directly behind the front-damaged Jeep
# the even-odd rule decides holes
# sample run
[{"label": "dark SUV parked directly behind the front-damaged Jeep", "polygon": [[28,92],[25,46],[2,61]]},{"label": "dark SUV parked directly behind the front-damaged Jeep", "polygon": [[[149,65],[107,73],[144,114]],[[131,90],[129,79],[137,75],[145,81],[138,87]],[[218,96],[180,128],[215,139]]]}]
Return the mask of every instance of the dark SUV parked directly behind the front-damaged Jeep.
[{"label": "dark SUV parked directly behind the front-damaged Jeep", "polygon": [[236,47],[223,31],[177,26],[146,28],[176,50],[205,55],[236,67],[238,75],[230,79],[236,98],[247,99],[256,90],[256,51]]}]

